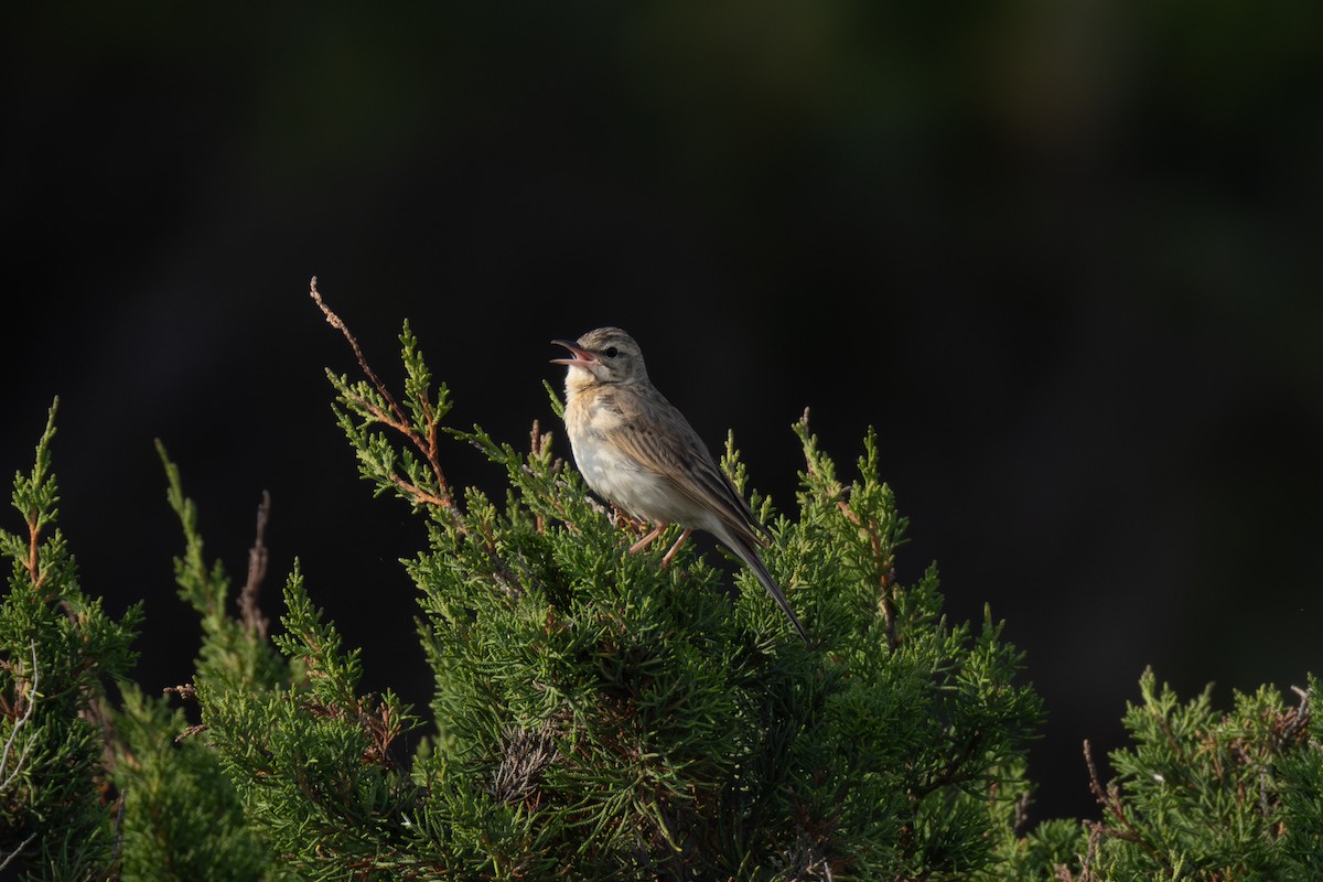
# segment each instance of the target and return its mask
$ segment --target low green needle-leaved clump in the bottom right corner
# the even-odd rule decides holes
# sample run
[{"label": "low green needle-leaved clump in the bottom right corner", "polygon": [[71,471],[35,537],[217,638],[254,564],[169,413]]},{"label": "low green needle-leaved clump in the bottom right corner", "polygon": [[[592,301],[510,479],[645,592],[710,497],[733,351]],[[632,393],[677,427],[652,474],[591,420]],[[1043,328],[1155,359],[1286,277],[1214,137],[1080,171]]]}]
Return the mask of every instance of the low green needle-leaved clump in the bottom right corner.
[{"label": "low green needle-leaved clump in the bottom right corner", "polygon": [[1117,780],[1103,808],[1093,866],[1102,878],[1323,878],[1323,721],[1261,688],[1229,714],[1208,693],[1180,703],[1152,672],[1126,710],[1134,747],[1113,752]]}]

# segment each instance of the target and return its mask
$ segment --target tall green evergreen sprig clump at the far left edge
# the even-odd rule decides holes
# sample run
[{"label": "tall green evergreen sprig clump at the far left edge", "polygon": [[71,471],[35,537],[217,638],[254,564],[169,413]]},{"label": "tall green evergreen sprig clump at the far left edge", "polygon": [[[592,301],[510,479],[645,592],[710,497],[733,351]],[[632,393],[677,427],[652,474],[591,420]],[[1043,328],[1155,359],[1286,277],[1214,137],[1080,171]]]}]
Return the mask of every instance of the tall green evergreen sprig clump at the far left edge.
[{"label": "tall green evergreen sprig clump at the far left edge", "polygon": [[56,528],[54,434],[52,405],[32,472],[13,480],[25,530],[0,530],[11,563],[0,604],[0,867],[22,866],[33,879],[103,878],[118,860],[118,807],[106,799],[102,763],[106,688],[134,665],[142,607],[116,621],[79,587]]}]

